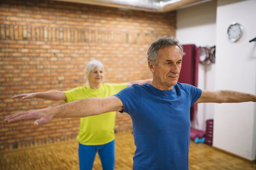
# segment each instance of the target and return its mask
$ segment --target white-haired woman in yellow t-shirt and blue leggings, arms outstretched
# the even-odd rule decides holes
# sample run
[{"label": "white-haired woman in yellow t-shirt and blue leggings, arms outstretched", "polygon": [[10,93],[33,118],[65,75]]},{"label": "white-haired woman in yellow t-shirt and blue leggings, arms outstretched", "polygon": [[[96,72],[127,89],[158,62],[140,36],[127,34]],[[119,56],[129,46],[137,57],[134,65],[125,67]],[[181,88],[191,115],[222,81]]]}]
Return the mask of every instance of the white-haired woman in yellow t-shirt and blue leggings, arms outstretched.
[{"label": "white-haired woman in yellow t-shirt and blue leggings, arms outstretched", "polygon": [[[131,86],[132,84],[145,84],[152,79],[137,80],[134,82],[114,84],[103,83],[103,64],[92,60],[86,67],[87,85],[78,86],[67,91],[45,91],[15,95],[12,98],[41,98],[49,100],[74,100],[88,97],[108,97]],[[80,170],[92,170],[95,155],[98,152],[103,170],[114,170],[115,166],[115,112],[104,113],[90,117],[80,118],[79,135],[79,166]]]}]

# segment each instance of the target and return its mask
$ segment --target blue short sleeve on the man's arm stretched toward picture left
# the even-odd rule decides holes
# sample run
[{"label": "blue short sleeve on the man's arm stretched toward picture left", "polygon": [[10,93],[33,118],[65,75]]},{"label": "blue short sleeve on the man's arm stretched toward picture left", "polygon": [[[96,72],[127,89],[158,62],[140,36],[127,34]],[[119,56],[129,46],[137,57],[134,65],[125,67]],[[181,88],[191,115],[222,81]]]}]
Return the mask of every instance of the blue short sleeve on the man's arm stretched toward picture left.
[{"label": "blue short sleeve on the man's arm stretched toward picture left", "polygon": [[138,112],[141,97],[137,86],[137,84],[134,84],[115,94],[115,96],[123,103],[124,110],[120,111],[120,113],[126,112],[129,115],[132,115]]}]

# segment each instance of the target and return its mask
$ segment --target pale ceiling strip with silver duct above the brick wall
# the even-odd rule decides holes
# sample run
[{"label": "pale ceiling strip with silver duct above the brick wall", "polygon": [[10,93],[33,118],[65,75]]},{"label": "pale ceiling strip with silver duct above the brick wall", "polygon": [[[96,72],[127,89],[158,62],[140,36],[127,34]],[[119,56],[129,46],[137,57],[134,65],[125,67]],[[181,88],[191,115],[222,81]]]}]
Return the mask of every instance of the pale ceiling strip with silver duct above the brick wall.
[{"label": "pale ceiling strip with silver duct above the brick wall", "polygon": [[210,0],[55,0],[82,4],[116,7],[121,9],[134,9],[149,12],[168,12],[182,9]]}]

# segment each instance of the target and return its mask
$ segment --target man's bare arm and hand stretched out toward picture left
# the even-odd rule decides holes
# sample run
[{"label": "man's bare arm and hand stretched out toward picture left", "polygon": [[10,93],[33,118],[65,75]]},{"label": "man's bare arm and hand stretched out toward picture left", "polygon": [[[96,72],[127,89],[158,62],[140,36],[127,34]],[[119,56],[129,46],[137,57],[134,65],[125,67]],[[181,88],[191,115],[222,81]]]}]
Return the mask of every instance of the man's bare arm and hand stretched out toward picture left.
[{"label": "man's bare arm and hand stretched out toward picture left", "polygon": [[5,117],[4,121],[11,123],[35,120],[34,125],[38,126],[49,123],[53,117],[88,117],[121,110],[123,110],[123,103],[116,96],[106,98],[92,97],[58,106],[15,113]]}]

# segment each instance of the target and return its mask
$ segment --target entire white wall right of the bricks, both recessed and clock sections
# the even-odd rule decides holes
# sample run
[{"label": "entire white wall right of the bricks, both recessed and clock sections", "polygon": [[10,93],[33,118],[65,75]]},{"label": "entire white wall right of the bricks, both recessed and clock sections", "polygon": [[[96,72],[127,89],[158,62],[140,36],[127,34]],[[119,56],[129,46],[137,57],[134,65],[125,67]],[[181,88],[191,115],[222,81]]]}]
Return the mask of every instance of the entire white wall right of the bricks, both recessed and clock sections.
[{"label": "entire white wall right of the bricks, both recessed and clock sections", "polygon": [[[256,94],[256,0],[213,0],[177,11],[176,37],[182,44],[216,45],[216,64],[200,65],[198,86]],[[240,41],[227,39],[231,22],[244,26]],[[204,70],[205,69],[205,70]],[[256,103],[200,104],[196,128],[214,119],[213,146],[256,159]]]}]

